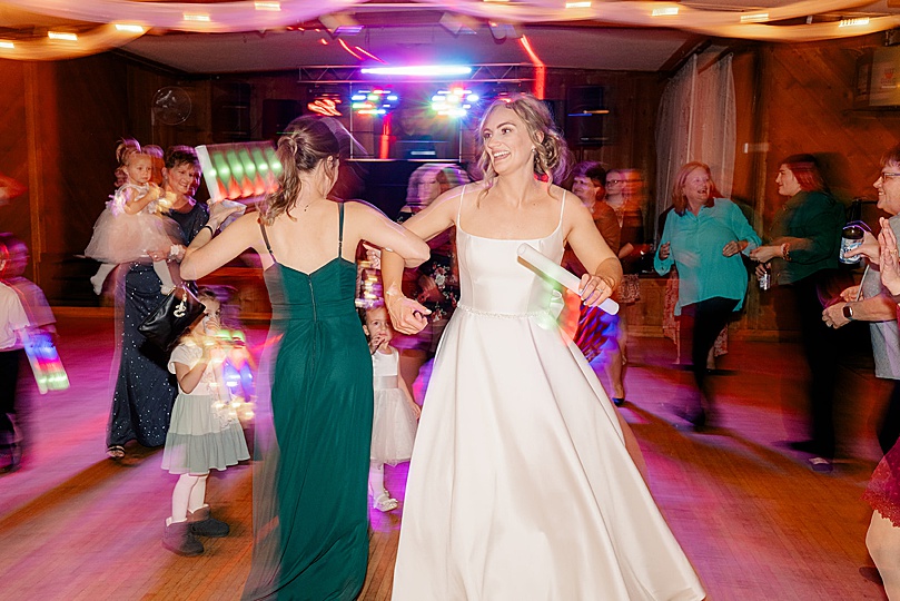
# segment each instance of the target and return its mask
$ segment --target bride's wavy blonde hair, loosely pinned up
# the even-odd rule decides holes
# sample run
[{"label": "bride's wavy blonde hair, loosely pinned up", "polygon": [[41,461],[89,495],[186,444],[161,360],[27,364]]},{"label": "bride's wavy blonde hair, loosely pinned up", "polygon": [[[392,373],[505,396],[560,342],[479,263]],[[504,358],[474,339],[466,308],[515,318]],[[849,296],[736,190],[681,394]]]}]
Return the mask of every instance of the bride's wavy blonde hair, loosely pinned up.
[{"label": "bride's wavy blonde hair, loosely pinned up", "polygon": [[553,122],[550,109],[534,96],[518,93],[512,98],[495,100],[487,107],[482,120],[478,122],[478,132],[476,135],[479,150],[478,167],[488,183],[493,183],[497,174],[491,165],[491,152],[487,150],[482,132],[484,131],[485,121],[495,110],[512,110],[520,119],[525,121],[528,138],[535,148],[535,174],[547,177],[551,183],[554,180],[561,181],[565,178],[568,167],[568,148],[556,129],[556,124]]}]

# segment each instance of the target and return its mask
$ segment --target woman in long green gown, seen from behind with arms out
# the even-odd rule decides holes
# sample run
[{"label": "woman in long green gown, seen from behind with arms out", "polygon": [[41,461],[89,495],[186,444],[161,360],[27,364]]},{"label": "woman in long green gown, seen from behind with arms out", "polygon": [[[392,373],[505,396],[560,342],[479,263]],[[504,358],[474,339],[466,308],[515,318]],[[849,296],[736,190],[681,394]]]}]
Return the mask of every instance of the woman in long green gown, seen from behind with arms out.
[{"label": "woman in long green gown, seen from behind with arms out", "polygon": [[271,411],[255,423],[245,599],[355,599],[366,575],[372,359],[354,307],[354,258],[365,239],[415,267],[428,246],[364,203],[328,199],[347,141],[334,119],[295,120],[278,141],[280,189],[261,214],[215,238],[201,230],[181,263],[181,277],[197,279],[251,247],[273,304],[278,348],[263,374]]}]

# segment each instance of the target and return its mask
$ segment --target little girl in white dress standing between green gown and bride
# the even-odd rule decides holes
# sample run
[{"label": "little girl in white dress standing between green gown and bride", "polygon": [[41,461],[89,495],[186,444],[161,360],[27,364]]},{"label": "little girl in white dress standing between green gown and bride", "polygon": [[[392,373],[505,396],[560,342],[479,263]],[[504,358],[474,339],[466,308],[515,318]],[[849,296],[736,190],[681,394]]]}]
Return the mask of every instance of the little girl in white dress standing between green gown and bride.
[{"label": "little girl in white dress standing between green gown and bride", "polygon": [[368,491],[378,511],[397,509],[397,500],[385,490],[385,463],[396,465],[413,456],[416,421],[422,410],[413,401],[409,388],[399,377],[399,353],[390,346],[394,329],[387,309],[377,305],[365,311],[363,331],[372,352],[375,385],[375,414],[372,420],[372,452]]}]

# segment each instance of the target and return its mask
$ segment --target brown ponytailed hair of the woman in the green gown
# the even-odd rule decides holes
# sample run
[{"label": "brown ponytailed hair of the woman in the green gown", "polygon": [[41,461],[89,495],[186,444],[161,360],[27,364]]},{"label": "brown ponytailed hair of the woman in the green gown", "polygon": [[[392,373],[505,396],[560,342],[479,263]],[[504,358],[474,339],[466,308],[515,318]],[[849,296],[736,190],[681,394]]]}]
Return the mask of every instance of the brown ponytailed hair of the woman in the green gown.
[{"label": "brown ponytailed hair of the woman in the green gown", "polygon": [[[294,218],[290,209],[297,205],[297,198],[303,189],[301,178],[314,171],[318,164],[328,157],[339,159],[346,146],[340,141],[345,136],[349,139],[344,126],[327,117],[306,116],[290,121],[284,136],[278,140],[276,154],[281,161],[283,170],[278,177],[278,190],[266,197],[263,211],[266,225],[271,225],[281,214]],[[329,169],[328,175],[337,179],[337,160],[326,165],[326,168]]]}]

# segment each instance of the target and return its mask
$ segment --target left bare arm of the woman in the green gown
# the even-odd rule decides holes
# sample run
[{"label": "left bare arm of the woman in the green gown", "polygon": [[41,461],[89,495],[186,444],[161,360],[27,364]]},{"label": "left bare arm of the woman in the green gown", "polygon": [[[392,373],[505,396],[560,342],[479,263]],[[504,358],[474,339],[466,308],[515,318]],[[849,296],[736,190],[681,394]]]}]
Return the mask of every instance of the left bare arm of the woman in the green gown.
[{"label": "left bare arm of the woman in the green gown", "polygon": [[249,213],[237,219],[215,239],[211,226],[200,229],[185,250],[185,258],[181,260],[181,279],[199,279],[249,247],[254,247],[259,253],[263,267],[268,267],[271,258],[265,250],[258,218],[258,213]]}]

